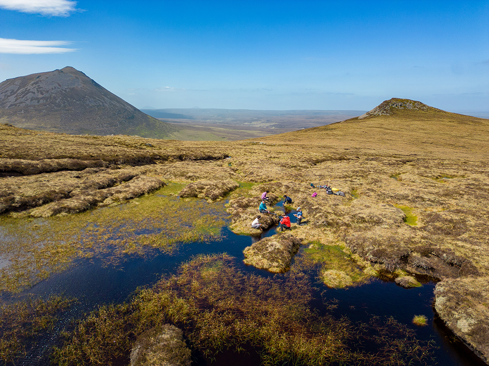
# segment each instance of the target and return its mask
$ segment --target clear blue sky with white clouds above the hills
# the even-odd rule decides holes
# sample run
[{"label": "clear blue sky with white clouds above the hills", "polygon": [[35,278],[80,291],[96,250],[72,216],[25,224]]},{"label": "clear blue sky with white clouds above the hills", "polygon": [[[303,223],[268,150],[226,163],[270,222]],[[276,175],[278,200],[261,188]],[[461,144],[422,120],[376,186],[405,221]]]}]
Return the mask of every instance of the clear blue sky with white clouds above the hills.
[{"label": "clear blue sky with white clouds above the hills", "polygon": [[489,111],[489,0],[0,0],[0,81],[65,66],[138,108]]}]

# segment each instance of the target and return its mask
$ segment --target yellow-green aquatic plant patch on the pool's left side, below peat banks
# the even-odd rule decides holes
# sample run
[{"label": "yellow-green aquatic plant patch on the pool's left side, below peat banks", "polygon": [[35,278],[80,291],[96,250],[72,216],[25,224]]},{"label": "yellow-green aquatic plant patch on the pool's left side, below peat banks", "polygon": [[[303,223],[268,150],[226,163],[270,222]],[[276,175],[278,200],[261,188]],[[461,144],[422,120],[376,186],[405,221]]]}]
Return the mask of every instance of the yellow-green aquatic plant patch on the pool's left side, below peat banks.
[{"label": "yellow-green aquatic plant patch on the pool's left side, below peat banks", "polygon": [[222,203],[176,197],[182,184],[115,207],[43,219],[3,217],[0,291],[18,292],[60,272],[76,258],[116,264],[154,249],[172,254],[179,245],[218,239],[226,223]]}]

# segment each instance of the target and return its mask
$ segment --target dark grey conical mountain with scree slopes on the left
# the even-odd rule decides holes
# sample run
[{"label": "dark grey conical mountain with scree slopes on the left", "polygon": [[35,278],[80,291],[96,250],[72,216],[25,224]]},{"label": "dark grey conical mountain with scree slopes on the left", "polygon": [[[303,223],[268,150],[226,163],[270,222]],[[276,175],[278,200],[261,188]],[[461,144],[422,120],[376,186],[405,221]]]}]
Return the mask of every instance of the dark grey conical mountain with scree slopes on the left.
[{"label": "dark grey conical mountain with scree slopes on the left", "polygon": [[70,66],[1,82],[0,122],[68,134],[165,138],[177,131]]}]

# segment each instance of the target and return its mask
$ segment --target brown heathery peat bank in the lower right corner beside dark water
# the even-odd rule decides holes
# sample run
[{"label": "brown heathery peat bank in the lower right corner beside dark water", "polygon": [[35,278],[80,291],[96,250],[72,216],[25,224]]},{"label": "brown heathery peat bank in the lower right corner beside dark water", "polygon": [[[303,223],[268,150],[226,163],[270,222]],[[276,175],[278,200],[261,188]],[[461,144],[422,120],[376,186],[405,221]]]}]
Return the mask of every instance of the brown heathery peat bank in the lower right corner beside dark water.
[{"label": "brown heathery peat bank in the lower right corner beside dark water", "polygon": [[458,278],[435,287],[435,310],[453,333],[489,364],[489,278]]}]

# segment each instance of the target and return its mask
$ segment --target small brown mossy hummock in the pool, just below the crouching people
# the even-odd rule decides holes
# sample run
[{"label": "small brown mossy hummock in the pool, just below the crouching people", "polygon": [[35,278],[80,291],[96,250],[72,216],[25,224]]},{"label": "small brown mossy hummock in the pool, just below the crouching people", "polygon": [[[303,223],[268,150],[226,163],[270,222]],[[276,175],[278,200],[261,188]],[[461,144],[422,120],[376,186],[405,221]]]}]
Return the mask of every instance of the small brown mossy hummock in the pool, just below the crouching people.
[{"label": "small brown mossy hummock in the pool, just below the crouching people", "polygon": [[273,235],[243,250],[244,263],[272,273],[287,272],[301,240],[292,235]]}]

